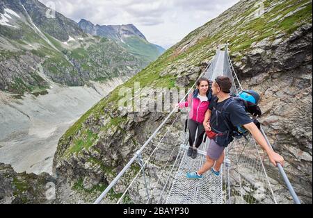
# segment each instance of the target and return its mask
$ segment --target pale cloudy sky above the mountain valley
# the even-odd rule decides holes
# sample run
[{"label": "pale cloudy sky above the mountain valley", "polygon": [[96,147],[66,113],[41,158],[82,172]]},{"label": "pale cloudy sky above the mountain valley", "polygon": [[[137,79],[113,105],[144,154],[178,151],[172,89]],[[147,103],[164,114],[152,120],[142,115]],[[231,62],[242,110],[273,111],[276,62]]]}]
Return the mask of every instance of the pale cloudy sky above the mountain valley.
[{"label": "pale cloudy sky above the mountain valley", "polygon": [[93,24],[134,24],[149,42],[172,47],[239,0],[39,0],[65,17]]}]

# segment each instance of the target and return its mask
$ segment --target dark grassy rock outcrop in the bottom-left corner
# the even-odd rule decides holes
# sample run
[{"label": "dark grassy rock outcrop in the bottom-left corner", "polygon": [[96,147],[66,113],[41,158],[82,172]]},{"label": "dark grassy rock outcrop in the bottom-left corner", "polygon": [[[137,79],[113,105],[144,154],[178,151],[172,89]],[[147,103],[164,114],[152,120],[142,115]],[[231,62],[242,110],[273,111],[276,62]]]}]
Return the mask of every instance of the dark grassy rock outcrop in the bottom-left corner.
[{"label": "dark grassy rock outcrop in the bottom-left corner", "polygon": [[54,183],[47,173],[17,174],[10,165],[0,163],[0,203],[53,203]]}]

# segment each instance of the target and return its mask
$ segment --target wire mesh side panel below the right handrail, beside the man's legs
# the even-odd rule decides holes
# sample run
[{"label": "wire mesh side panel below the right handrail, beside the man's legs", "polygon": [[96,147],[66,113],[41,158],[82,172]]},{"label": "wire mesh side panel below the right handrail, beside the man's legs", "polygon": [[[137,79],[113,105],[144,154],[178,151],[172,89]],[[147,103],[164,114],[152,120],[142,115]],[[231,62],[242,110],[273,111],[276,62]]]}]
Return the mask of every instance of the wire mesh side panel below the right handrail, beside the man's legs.
[{"label": "wire mesh side panel below the right handrail, beside the man's legs", "polygon": [[[235,140],[227,156],[229,173],[225,173],[225,203],[273,204],[277,203],[263,162],[267,155],[249,135],[247,139]],[[228,192],[230,190],[230,192]]]}]

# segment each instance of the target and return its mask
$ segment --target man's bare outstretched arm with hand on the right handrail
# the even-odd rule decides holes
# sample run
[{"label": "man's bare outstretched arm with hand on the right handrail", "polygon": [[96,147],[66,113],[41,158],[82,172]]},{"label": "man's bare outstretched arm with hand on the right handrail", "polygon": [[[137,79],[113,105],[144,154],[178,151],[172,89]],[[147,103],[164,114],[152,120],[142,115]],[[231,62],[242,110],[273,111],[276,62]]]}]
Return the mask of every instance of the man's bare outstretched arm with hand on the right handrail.
[{"label": "man's bare outstretched arm with hand on the right handrail", "polygon": [[262,149],[266,151],[269,160],[275,167],[277,166],[276,162],[280,162],[282,166],[284,165],[284,158],[282,158],[280,154],[276,153],[275,151],[271,149],[270,146],[268,146],[264,136],[262,135],[262,133],[259,131],[259,129],[257,128],[257,126],[255,126],[253,122],[251,122],[250,124],[245,124],[243,126],[255,138],[255,141],[257,141],[257,144],[261,145]]}]

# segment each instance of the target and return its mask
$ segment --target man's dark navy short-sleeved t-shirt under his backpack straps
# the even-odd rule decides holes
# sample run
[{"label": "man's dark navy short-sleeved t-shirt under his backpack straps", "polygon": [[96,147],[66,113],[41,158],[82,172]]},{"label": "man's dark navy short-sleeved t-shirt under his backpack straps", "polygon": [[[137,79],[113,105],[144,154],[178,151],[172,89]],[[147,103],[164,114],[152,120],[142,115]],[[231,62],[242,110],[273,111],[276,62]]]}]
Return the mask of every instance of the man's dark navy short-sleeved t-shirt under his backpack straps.
[{"label": "man's dark navy short-sleeved t-shirt under his backpack straps", "polygon": [[[223,121],[220,112],[223,105],[228,99],[222,102],[217,102],[218,98],[214,96],[209,104],[209,110],[211,110],[210,126],[212,130],[217,130],[220,132],[225,132],[228,130],[225,122]],[[214,110],[216,108],[216,110]],[[250,124],[252,120],[247,115],[246,110],[237,102],[232,102],[225,110],[225,117],[227,123],[231,123],[232,126],[241,126],[244,124]]]}]

